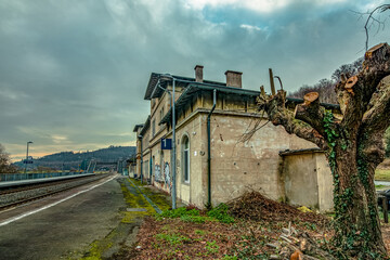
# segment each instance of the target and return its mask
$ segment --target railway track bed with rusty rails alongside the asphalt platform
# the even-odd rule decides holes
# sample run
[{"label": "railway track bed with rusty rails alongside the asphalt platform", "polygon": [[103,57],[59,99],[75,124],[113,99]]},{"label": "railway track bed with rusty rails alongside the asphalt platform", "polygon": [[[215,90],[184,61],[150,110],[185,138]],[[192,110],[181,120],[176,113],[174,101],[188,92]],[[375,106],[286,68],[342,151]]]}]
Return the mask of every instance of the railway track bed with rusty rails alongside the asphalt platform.
[{"label": "railway track bed with rusty rails alongside the asphalt platform", "polygon": [[[38,199],[42,199],[44,197],[49,197],[54,194],[58,194],[72,190],[74,187],[101,180],[106,176],[107,174],[84,177],[82,179],[55,181],[52,183],[44,183],[40,185],[35,184],[32,185],[34,187],[29,185],[25,187],[17,187],[17,188],[2,191],[0,193],[0,211],[14,208]],[[5,198],[6,196],[8,198]]]}]

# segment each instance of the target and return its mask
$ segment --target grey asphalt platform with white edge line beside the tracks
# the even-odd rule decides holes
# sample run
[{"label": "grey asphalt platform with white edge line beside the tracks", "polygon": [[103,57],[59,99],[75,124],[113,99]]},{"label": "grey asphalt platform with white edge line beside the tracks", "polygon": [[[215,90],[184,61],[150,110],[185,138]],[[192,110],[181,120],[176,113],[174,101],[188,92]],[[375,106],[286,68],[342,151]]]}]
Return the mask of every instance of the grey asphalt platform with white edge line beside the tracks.
[{"label": "grey asphalt platform with white edge line beside the tracks", "polygon": [[[140,224],[127,224],[118,232],[121,212],[127,207],[119,181],[123,178],[112,176],[0,212],[0,259],[80,259],[88,251],[98,259],[112,258],[123,242],[131,244],[134,227]],[[94,256],[91,245],[99,245],[94,243],[105,237],[110,237],[110,250]]]}]

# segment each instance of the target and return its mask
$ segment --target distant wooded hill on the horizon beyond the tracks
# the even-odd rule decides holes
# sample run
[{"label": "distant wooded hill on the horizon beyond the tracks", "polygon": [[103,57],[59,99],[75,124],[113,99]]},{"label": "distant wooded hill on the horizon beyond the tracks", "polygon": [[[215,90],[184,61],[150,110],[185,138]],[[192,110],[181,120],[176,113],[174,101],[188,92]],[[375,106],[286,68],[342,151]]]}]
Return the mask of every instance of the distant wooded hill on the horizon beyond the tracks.
[{"label": "distant wooded hill on the horizon beyond the tracks", "polygon": [[[114,162],[118,161],[119,158],[128,159],[135,155],[134,146],[109,146],[107,148],[101,148],[92,152],[61,152],[43,156],[38,159],[34,159],[34,164],[29,165],[28,168],[38,167],[50,167],[53,169],[72,170],[78,169],[82,160],[91,160],[92,158],[96,161]],[[17,167],[24,167],[23,161],[14,162]]]}]

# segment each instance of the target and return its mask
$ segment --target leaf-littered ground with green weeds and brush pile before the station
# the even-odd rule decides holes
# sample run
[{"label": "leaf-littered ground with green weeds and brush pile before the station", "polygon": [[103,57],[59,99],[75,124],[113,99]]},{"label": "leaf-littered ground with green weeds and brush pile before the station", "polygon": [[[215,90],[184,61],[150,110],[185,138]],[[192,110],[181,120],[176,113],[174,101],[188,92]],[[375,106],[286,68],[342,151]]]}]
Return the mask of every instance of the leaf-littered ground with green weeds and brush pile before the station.
[{"label": "leaf-littered ground with green weeds and brush pile before the station", "polygon": [[[247,196],[229,205],[236,217],[233,223],[223,223],[205,212],[194,219],[146,218],[138,243],[122,255],[123,259],[290,259],[291,248],[287,247],[298,247],[295,239],[301,239],[302,234],[326,251],[333,236],[330,218],[253,194]],[[239,206],[243,202],[247,204]],[[390,248],[390,225],[384,223],[382,232]]]}]

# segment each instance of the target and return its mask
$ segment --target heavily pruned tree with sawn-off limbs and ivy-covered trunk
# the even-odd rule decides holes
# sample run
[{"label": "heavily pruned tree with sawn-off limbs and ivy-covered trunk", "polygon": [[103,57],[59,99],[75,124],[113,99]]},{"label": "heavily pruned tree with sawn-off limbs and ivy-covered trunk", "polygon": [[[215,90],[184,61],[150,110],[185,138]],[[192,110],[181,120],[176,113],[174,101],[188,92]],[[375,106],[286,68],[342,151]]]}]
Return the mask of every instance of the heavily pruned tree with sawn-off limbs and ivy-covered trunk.
[{"label": "heavily pruned tree with sawn-off limbs and ivy-covered trunk", "polygon": [[390,125],[390,47],[378,44],[365,53],[363,68],[341,75],[336,93],[342,119],[304,95],[295,112],[285,106],[286,92],[262,93],[259,109],[273,125],[313,142],[326,152],[334,181],[335,236],[339,258],[380,259],[386,253],[374,185],[376,167],[385,158],[384,134]]}]

